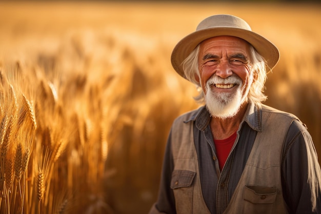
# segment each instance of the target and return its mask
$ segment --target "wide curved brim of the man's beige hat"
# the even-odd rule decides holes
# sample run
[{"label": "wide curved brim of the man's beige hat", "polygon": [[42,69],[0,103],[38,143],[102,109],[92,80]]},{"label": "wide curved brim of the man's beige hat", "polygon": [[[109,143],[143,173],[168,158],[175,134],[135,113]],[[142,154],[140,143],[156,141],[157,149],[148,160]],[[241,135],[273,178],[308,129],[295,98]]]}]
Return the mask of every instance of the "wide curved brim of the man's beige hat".
[{"label": "wide curved brim of the man's beige hat", "polygon": [[279,51],[277,47],[266,38],[254,33],[253,31],[234,27],[212,27],[195,31],[185,36],[177,43],[171,55],[171,63],[175,71],[186,78],[182,67],[182,63],[186,57],[197,47],[199,43],[207,40],[208,38],[222,35],[239,37],[250,43],[266,60],[268,72],[274,68],[279,60]]}]

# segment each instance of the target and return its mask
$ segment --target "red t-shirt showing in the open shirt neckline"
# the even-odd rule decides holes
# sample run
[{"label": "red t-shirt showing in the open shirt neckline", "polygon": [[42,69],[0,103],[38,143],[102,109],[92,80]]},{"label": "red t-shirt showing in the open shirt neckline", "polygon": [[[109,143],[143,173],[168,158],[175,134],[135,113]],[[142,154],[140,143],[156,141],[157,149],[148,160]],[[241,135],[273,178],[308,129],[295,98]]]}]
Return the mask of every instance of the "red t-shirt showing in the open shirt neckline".
[{"label": "red t-shirt showing in the open shirt neckline", "polygon": [[229,156],[229,153],[232,149],[232,146],[235,140],[236,140],[236,131],[227,139],[224,139],[224,140],[214,139],[218,165],[221,171],[223,169],[223,166],[226,162],[227,157]]}]

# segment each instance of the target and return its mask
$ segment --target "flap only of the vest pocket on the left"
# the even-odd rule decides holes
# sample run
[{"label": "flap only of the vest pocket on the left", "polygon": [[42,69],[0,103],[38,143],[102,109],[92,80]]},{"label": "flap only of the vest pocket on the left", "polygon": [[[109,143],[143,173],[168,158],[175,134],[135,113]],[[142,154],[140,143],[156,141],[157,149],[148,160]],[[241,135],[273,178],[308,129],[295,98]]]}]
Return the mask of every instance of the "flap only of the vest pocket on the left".
[{"label": "flap only of the vest pocket on the left", "polygon": [[174,170],[172,173],[171,188],[189,187],[192,185],[196,172]]}]

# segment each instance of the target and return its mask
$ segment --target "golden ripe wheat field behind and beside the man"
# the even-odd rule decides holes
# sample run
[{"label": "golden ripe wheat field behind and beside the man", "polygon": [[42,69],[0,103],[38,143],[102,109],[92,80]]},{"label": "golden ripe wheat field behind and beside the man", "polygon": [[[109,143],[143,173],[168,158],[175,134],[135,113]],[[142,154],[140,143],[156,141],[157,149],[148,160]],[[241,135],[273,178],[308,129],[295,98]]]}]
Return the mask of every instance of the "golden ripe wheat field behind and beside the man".
[{"label": "golden ripe wheat field behind and beside the man", "polygon": [[279,48],[266,104],[321,153],[321,6],[0,2],[0,213],[146,213],[171,123],[198,105],[170,65],[203,18],[229,13]]}]

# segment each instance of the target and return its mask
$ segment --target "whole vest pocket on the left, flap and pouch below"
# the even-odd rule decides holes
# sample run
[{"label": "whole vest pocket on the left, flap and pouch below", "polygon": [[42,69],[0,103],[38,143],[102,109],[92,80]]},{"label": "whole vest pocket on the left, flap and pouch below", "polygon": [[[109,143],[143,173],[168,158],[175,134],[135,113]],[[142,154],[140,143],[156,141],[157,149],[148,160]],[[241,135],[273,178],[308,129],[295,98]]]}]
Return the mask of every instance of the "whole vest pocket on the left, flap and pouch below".
[{"label": "whole vest pocket on the left, flap and pouch below", "polygon": [[192,213],[193,180],[196,172],[174,170],[171,179],[171,188],[174,192],[177,213]]}]

